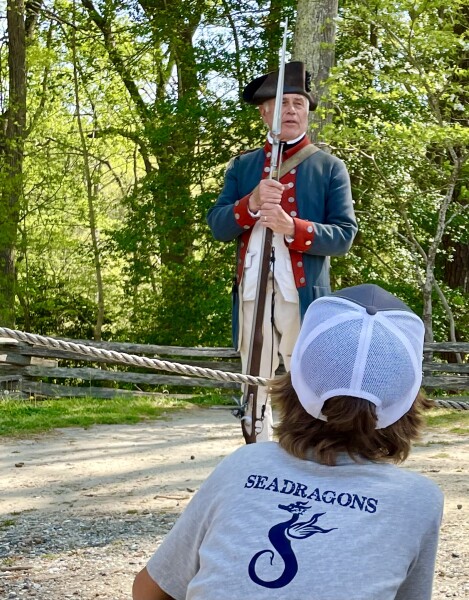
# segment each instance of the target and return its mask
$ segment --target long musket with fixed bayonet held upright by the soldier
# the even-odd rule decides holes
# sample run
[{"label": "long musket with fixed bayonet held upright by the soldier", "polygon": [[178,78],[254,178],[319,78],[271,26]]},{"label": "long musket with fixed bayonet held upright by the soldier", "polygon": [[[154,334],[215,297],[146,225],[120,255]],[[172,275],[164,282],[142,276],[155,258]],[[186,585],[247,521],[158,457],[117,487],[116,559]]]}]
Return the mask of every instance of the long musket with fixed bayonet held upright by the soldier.
[{"label": "long musket with fixed bayonet held upright by the soldier", "polygon": [[[275,95],[275,108],[272,121],[272,155],[270,158],[269,179],[278,181],[280,170],[280,133],[282,130],[282,100],[283,84],[285,80],[285,53],[287,48],[287,27],[288,19],[284,24],[282,53],[277,81],[277,92]],[[262,324],[264,321],[265,300],[267,279],[270,271],[270,261],[272,256],[272,238],[273,231],[268,227],[262,228],[261,240],[261,260],[259,264],[259,275],[257,278],[256,298],[254,302],[254,316],[249,343],[249,354],[246,373],[248,375],[259,376],[261,368],[262,346],[264,336],[262,333]],[[256,385],[246,385],[244,390],[243,407],[244,416],[241,419],[241,427],[246,444],[253,444],[257,437],[257,390]],[[249,422],[251,431],[248,430]]]}]

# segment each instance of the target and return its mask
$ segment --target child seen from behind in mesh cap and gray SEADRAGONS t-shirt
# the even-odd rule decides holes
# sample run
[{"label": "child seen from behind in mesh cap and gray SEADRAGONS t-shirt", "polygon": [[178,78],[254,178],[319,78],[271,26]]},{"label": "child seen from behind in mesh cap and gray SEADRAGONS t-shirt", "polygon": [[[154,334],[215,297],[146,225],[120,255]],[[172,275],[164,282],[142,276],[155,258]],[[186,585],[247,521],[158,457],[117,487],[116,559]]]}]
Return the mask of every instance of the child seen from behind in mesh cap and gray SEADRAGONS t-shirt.
[{"label": "child seen from behind in mesh cap and gray SEADRAGONS t-shirt", "polygon": [[315,300],[270,392],[279,442],[225,458],[134,600],[429,600],[443,497],[392,465],[422,426],[424,327],[375,285]]}]

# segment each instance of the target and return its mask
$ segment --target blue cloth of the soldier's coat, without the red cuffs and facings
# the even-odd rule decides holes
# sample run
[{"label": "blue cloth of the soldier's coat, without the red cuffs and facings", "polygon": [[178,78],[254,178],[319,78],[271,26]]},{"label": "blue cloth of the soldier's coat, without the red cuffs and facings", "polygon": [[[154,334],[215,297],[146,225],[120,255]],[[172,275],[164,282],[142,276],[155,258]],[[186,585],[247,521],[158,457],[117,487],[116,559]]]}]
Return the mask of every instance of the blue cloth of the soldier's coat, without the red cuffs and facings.
[{"label": "blue cloth of the soldier's coat, without the red cuffs and facings", "polygon": [[[262,179],[264,148],[237,156],[229,165],[224,186],[207,221],[215,239],[230,242],[245,233],[235,219],[233,205],[250,194]],[[298,288],[301,319],[310,303],[330,293],[329,256],[350,249],[357,233],[350,178],[344,163],[322,150],[297,167],[298,217],[312,222],[314,240],[303,253],[306,285]],[[233,343],[238,343],[238,295],[233,294]]]}]

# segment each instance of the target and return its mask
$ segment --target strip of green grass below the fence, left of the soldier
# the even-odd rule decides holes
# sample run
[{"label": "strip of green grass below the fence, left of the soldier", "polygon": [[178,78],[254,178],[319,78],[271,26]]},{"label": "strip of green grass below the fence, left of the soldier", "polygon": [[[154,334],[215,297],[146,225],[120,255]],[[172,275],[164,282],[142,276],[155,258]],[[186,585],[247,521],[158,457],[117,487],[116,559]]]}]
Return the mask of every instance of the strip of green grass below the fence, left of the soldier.
[{"label": "strip of green grass below the fence, left of the soldier", "polygon": [[161,419],[171,411],[190,408],[194,404],[211,406],[233,403],[222,395],[199,395],[180,400],[161,398],[60,398],[37,401],[0,400],[0,436],[26,437],[59,427],[133,424],[148,419]]}]

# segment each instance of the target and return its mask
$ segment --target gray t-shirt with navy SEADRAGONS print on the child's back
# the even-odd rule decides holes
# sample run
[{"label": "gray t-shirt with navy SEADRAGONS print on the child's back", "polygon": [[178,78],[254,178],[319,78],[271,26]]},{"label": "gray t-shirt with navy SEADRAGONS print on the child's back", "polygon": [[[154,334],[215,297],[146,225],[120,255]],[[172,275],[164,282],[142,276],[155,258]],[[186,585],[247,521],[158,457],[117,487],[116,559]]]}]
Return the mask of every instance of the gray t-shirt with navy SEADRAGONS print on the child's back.
[{"label": "gray t-shirt with navy SEADRAGONS print on the child's back", "polygon": [[147,564],[176,600],[429,600],[443,495],[391,464],[243,446]]}]

